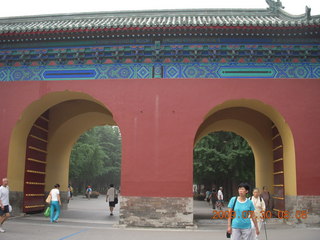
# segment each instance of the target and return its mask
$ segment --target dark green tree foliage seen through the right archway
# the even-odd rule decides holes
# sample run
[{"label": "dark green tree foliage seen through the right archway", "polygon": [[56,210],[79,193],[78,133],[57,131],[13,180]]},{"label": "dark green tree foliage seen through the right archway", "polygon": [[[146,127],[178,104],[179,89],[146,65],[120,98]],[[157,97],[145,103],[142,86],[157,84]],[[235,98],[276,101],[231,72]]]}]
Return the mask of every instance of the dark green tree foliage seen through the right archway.
[{"label": "dark green tree foliage seen through the right archway", "polygon": [[210,133],[194,148],[194,183],[207,187],[254,183],[254,156],[248,142],[232,132]]}]

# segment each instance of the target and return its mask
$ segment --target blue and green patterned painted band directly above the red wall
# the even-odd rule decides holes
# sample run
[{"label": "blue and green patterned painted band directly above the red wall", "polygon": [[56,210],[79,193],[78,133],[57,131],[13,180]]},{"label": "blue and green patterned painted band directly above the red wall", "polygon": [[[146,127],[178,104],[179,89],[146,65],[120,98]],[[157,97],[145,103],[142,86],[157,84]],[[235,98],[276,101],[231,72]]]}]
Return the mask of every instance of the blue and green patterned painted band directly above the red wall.
[{"label": "blue and green patterned painted band directly above the red wall", "polygon": [[[252,72],[226,74],[226,69]],[[261,74],[258,69],[269,70]],[[56,78],[49,72],[90,71],[86,78],[77,75]],[[246,75],[247,74],[247,75]],[[320,64],[311,63],[132,63],[61,66],[0,67],[0,81],[50,81],[81,79],[147,79],[147,78],[320,78]]]}]

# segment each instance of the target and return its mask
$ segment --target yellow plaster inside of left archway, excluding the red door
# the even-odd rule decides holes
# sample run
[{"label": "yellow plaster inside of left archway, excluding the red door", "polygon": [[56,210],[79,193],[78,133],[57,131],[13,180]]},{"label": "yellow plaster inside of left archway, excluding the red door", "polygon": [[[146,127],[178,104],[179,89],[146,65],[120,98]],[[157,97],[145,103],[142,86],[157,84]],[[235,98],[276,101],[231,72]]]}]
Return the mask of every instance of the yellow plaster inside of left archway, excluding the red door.
[{"label": "yellow plaster inside of left archway, excluding the red door", "polygon": [[10,139],[7,176],[11,191],[23,191],[27,136],[35,120],[48,109],[46,190],[55,183],[60,183],[62,191],[67,190],[71,149],[83,132],[98,125],[116,125],[110,111],[85,93],[54,92],[31,103]]}]

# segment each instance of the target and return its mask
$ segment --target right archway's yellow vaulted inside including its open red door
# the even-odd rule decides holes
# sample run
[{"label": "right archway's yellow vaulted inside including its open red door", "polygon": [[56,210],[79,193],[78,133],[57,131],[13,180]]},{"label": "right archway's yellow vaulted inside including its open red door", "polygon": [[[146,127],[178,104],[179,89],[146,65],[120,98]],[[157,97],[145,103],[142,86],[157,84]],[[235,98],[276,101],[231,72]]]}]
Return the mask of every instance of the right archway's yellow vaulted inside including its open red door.
[{"label": "right archway's yellow vaulted inside including its open red door", "polygon": [[194,144],[217,131],[234,132],[248,141],[255,158],[255,187],[268,186],[272,210],[285,210],[286,196],[296,196],[297,185],[293,136],[281,114],[258,100],[226,101],[205,116]]}]

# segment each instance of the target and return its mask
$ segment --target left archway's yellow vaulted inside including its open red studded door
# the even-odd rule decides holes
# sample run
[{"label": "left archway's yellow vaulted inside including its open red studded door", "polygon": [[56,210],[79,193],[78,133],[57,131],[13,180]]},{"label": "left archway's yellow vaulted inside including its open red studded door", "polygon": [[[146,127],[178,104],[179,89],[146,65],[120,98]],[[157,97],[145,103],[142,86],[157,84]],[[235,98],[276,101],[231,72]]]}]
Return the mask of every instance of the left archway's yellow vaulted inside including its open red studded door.
[{"label": "left archway's yellow vaulted inside including its open red studded door", "polygon": [[14,127],[9,146],[8,178],[16,208],[44,209],[55,183],[66,202],[72,146],[94,126],[117,125],[110,110],[82,92],[52,92],[32,102]]}]

